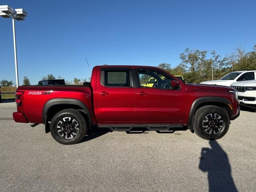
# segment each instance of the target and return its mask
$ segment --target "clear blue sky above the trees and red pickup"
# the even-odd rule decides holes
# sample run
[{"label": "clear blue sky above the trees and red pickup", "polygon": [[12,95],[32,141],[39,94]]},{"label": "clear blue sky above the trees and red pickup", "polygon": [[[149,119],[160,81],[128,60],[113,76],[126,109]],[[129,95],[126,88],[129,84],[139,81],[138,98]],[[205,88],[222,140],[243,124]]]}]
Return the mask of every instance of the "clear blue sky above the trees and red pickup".
[{"label": "clear blue sky above the trees and red pickup", "polygon": [[[180,63],[186,48],[216,50],[256,44],[254,0],[1,0],[28,12],[16,22],[19,80],[54,74],[87,78],[88,67]],[[0,80],[15,82],[11,19],[0,18]]]}]

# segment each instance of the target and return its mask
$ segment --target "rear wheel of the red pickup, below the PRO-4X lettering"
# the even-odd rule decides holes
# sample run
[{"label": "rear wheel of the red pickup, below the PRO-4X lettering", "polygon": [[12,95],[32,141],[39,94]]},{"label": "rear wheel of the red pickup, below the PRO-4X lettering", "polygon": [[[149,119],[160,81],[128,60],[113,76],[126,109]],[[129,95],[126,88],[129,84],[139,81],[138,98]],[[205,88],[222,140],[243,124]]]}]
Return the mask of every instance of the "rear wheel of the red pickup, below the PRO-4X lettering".
[{"label": "rear wheel of the red pickup, below the PRO-4X lettering", "polygon": [[87,126],[84,117],[78,110],[65,109],[52,118],[50,132],[58,143],[72,145],[84,138]]}]

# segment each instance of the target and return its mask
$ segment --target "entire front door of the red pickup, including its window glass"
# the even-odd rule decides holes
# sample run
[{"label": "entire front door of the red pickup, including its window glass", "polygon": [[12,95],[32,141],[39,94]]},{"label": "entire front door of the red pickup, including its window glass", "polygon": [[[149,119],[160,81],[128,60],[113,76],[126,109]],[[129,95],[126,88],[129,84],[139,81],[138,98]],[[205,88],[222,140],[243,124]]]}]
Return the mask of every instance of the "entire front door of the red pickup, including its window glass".
[{"label": "entire front door of the red pickup, including its window glass", "polygon": [[[172,77],[158,73],[155,76],[151,72],[138,71],[139,86],[136,88],[135,98],[135,122],[151,123],[178,123],[186,114],[187,94],[186,90],[180,86],[180,89],[174,90],[170,86]],[[152,88],[141,86],[144,83],[143,75],[153,76],[158,79]],[[155,73],[156,74],[156,73]],[[159,78],[160,77],[160,78]]]}]

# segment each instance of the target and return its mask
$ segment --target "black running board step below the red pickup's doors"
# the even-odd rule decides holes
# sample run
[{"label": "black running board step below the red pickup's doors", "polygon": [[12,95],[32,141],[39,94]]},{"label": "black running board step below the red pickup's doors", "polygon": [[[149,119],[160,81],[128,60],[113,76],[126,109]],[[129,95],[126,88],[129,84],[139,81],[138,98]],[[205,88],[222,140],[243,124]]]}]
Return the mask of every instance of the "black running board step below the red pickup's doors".
[{"label": "black running board step below the red pickup's doors", "polygon": [[182,124],[112,124],[98,125],[99,128],[109,128],[111,131],[131,131],[133,128],[146,128],[149,131],[168,131],[170,128],[182,128]]}]

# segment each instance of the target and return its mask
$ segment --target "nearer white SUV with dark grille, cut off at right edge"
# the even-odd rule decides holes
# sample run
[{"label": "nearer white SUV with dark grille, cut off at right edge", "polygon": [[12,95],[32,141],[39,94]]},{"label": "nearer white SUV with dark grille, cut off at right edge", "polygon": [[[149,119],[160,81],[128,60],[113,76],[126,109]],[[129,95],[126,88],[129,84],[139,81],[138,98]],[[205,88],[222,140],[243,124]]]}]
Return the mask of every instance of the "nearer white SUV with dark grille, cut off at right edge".
[{"label": "nearer white SUV with dark grille, cut off at right edge", "polygon": [[231,87],[237,90],[241,106],[256,109],[256,80],[235,82]]}]

